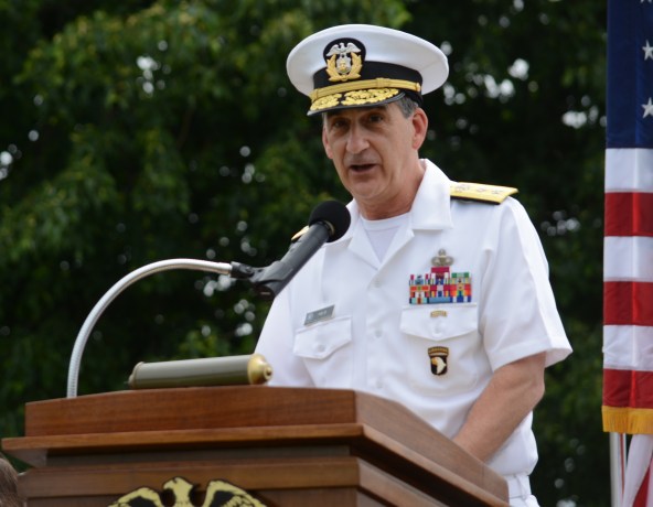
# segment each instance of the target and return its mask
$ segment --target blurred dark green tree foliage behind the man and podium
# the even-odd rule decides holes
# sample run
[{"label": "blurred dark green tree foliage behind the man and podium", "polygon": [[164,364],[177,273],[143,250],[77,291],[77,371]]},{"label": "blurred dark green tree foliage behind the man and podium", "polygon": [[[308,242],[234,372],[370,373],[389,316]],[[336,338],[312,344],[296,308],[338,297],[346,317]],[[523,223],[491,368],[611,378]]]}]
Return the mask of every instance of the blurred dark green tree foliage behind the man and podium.
[{"label": "blurred dark green tree foliage behind the man and podium", "polygon": [[[22,433],[26,401],[65,396],[75,336],[120,278],[176,257],[267,266],[317,203],[349,199],[285,73],[298,41],[344,22],[448,54],[422,155],[520,187],[575,347],[536,410],[534,489],[608,505],[592,0],[0,0],[0,435]],[[248,354],[267,309],[225,277],[149,277],[98,322],[79,393],[124,389],[140,360]]]}]

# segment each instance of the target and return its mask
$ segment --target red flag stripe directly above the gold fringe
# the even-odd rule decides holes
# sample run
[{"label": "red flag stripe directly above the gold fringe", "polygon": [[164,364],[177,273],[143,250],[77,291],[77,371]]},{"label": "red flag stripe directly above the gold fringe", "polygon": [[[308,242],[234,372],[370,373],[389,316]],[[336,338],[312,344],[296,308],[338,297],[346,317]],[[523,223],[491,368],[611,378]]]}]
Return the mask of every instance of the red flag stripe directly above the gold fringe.
[{"label": "red flag stripe directly above the gold fringe", "polygon": [[603,369],[603,404],[653,409],[653,371]]}]

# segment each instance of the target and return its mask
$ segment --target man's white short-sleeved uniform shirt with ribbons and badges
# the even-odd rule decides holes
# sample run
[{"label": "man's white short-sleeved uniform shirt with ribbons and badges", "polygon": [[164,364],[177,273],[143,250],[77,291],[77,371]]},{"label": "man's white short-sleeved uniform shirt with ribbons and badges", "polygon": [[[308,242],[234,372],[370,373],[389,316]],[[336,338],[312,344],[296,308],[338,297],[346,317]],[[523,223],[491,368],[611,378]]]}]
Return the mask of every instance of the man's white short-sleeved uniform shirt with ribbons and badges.
[{"label": "man's white short-sleeved uniform shirt with ribbons and badges", "polygon": [[[449,179],[425,164],[407,225],[385,259],[377,260],[350,203],[347,233],[276,298],[257,352],[274,368],[271,385],[371,392],[452,438],[492,371],[545,350],[552,365],[571,348],[524,208],[510,197],[500,205],[452,199]],[[450,276],[467,274],[458,280],[462,301],[411,304],[410,280],[428,279],[440,250],[452,260]],[[531,420],[489,462],[500,474],[535,466]]]}]

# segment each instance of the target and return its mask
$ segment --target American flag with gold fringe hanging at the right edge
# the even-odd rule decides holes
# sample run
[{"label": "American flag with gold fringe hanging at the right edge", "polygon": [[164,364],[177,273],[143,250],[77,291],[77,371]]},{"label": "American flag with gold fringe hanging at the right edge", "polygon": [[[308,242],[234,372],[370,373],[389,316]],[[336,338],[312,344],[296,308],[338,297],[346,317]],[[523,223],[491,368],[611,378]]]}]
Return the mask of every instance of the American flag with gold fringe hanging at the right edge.
[{"label": "American flag with gold fringe hanging at the right edge", "polygon": [[608,0],[603,430],[632,434],[621,507],[653,506],[653,0]]}]

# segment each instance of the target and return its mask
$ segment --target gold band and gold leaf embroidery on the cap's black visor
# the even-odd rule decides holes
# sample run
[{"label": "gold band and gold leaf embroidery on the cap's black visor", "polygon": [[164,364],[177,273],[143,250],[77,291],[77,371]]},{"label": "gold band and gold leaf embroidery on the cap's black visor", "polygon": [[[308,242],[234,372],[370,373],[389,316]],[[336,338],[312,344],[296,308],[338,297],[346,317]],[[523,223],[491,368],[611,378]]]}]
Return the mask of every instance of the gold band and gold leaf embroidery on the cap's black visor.
[{"label": "gold band and gold leaf embroidery on the cap's black visor", "polygon": [[375,99],[370,97],[367,100],[361,100],[361,104],[385,100],[399,93],[399,90],[396,88],[420,91],[421,85],[419,83],[406,79],[389,79],[385,77],[378,77],[376,79],[355,80],[351,83],[341,83],[340,85],[325,86],[324,88],[318,88],[311,91],[309,95],[312,103],[311,110],[333,107],[338,105],[340,97],[342,97],[340,94],[350,91],[363,91],[372,89],[378,90],[376,94],[374,94],[376,96]]}]

